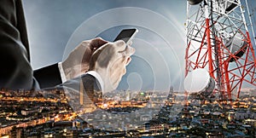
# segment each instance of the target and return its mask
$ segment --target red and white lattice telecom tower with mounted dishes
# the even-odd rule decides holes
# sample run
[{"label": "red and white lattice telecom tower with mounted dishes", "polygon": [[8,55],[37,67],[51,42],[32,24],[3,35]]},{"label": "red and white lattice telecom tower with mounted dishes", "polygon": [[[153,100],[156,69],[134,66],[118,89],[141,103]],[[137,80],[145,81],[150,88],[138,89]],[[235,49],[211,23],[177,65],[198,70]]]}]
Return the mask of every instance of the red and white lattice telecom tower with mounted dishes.
[{"label": "red and white lattice telecom tower with mounted dishes", "polygon": [[[240,0],[188,0],[185,90],[236,100],[243,86],[256,86],[256,57],[245,10]],[[197,84],[201,88],[195,90]]]}]

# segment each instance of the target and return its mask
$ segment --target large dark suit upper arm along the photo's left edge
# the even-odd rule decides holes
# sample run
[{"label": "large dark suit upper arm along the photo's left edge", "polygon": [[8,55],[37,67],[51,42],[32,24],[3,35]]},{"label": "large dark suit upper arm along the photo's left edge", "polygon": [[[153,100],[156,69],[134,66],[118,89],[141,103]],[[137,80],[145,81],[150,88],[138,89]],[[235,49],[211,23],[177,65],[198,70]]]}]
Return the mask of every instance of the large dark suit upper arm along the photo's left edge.
[{"label": "large dark suit upper arm along the photo's left edge", "polygon": [[20,0],[0,2],[0,88],[32,89],[26,25]]}]

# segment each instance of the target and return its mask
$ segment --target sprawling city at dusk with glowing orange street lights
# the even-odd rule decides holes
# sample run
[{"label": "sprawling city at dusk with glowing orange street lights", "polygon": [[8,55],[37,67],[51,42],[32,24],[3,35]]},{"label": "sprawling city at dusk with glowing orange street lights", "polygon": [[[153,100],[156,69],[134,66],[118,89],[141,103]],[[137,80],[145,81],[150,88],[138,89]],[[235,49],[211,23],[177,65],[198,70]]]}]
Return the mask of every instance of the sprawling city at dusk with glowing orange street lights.
[{"label": "sprawling city at dusk with glowing orange street lights", "polygon": [[62,89],[47,92],[2,89],[0,135],[26,138],[256,136],[256,89],[242,92],[232,103],[213,96],[207,99],[188,96],[172,88],[167,96],[161,96],[164,93],[110,93],[94,104],[86,103],[90,103],[87,105],[90,110],[77,110],[70,106],[70,99]]}]

